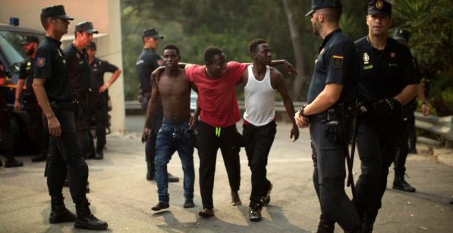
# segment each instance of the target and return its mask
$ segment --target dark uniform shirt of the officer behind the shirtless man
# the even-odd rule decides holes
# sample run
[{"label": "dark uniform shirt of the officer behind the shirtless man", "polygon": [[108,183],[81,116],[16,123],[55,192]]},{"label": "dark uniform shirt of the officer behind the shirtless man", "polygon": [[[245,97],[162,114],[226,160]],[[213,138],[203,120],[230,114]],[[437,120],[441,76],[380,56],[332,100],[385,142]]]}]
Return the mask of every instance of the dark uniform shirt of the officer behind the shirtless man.
[{"label": "dark uniform shirt of the officer behind the shirtless man", "polygon": [[151,49],[143,49],[139,58],[137,58],[137,74],[143,92],[151,91],[151,73],[159,66],[163,66],[161,57]]}]

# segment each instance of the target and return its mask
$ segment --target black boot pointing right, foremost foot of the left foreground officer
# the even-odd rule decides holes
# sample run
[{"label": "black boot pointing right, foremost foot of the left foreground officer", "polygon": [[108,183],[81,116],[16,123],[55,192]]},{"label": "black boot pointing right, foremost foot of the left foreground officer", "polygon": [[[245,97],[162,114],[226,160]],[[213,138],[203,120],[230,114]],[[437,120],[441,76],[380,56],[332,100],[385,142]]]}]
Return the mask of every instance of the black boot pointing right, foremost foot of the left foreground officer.
[{"label": "black boot pointing right, foremost foot of the left foreground officer", "polygon": [[88,230],[106,230],[108,225],[106,222],[97,219],[89,208],[89,202],[84,201],[80,204],[75,204],[75,212],[77,218],[74,222],[74,228]]}]

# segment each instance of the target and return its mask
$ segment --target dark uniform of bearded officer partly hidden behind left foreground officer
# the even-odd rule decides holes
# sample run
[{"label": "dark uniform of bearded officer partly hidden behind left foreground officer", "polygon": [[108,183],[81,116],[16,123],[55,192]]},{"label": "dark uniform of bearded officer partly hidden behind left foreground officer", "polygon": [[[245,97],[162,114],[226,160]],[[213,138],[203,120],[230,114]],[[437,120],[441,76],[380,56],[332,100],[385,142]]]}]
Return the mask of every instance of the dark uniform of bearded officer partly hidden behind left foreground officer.
[{"label": "dark uniform of bearded officer partly hidden behind left foreground officer", "polygon": [[[25,62],[21,64],[19,71],[19,79],[25,79],[25,90],[22,92],[23,106],[30,117],[34,136],[36,136],[36,142],[38,143],[40,157],[47,157],[47,150],[49,149],[49,134],[47,134],[43,125],[43,110],[39,107],[36,95],[33,90],[33,79],[34,79],[34,58],[28,57]],[[32,158],[33,160],[34,158]]]}]

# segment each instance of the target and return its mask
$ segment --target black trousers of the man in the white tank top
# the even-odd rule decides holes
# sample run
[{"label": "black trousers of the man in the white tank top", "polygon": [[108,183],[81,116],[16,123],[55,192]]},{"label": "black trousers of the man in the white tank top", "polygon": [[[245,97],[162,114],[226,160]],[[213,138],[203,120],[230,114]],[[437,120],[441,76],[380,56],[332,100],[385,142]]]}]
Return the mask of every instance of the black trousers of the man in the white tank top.
[{"label": "black trousers of the man in the white tank top", "polygon": [[248,159],[248,167],[252,172],[252,193],[250,195],[250,206],[258,204],[262,206],[261,197],[266,195],[270,188],[270,182],[266,178],[268,156],[270,147],[274,142],[277,125],[271,121],[267,125],[242,125],[244,130],[244,144]]}]

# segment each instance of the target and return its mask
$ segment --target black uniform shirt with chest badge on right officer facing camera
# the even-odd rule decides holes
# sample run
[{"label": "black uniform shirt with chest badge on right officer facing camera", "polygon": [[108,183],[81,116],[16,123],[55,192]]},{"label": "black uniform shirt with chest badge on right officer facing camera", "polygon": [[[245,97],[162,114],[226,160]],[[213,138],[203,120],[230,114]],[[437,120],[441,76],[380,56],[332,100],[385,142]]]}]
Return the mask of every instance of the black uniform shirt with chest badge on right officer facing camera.
[{"label": "black uniform shirt with chest badge on right officer facing camera", "polygon": [[356,41],[360,61],[359,95],[368,101],[395,97],[410,84],[419,84],[408,47],[387,38],[382,51],[375,51],[368,36]]}]

